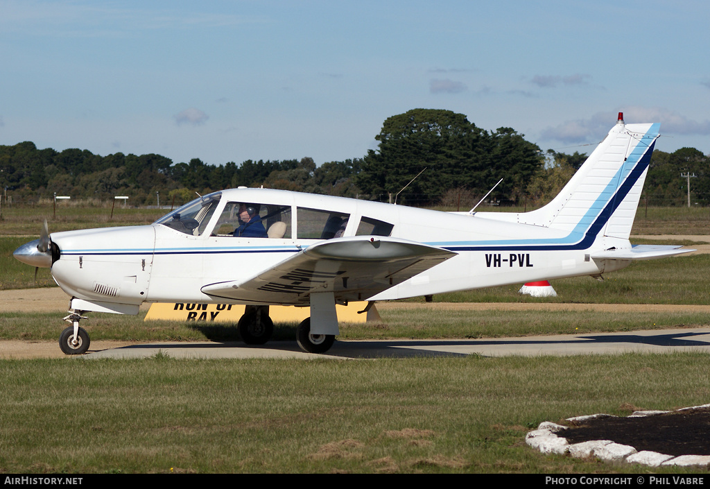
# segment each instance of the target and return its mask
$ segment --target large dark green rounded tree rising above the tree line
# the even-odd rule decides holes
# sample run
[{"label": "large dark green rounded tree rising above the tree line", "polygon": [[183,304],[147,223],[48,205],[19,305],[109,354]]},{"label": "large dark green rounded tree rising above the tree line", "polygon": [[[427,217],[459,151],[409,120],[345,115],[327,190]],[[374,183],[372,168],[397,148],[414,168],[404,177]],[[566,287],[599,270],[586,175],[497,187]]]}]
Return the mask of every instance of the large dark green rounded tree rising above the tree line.
[{"label": "large dark green rounded tree rising above the tree line", "polygon": [[515,199],[543,162],[539,148],[513,129],[488,133],[449,110],[389,117],[375,139],[378,150],[368,151],[355,181],[364,193],[386,200],[423,170],[398,203],[435,203],[451,188],[483,194],[501,178],[496,193]]}]

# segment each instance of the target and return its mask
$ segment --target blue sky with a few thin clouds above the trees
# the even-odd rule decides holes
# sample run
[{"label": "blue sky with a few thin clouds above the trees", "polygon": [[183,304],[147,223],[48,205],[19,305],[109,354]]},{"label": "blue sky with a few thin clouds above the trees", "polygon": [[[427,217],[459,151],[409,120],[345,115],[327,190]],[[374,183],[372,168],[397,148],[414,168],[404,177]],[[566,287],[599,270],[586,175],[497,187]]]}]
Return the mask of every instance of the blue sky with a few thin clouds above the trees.
[{"label": "blue sky with a few thin clouds above the trees", "polygon": [[565,153],[624,112],[709,154],[708,26],[701,0],[0,0],[0,144],[320,165],[428,108]]}]

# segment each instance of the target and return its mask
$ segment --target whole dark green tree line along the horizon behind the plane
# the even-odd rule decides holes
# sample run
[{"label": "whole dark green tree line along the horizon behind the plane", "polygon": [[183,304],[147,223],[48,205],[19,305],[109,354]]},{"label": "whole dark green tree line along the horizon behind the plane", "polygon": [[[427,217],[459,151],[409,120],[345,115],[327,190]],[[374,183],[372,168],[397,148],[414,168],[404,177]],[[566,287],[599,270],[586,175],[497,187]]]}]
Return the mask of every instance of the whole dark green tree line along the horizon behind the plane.
[{"label": "whole dark green tree line along the horizon behind the plane", "polygon": [[[464,205],[485,195],[494,203],[542,205],[569,180],[586,154],[543,152],[510,127],[486,131],[464,114],[413,109],[388,117],[375,139],[378,149],[317,166],[310,157],[234,161],[212,165],[200,158],[173,163],[159,154],[99,156],[81,149],[38,149],[29,141],[0,146],[0,190],[18,200],[71,195],[133,205],[190,200],[195,192],[239,186],[393,201],[407,205]],[[655,151],[645,197],[650,205],[710,203],[710,158],[697,149]],[[404,190],[403,190],[404,189]],[[461,203],[461,200],[464,200]],[[474,202],[476,200],[476,202]]]}]

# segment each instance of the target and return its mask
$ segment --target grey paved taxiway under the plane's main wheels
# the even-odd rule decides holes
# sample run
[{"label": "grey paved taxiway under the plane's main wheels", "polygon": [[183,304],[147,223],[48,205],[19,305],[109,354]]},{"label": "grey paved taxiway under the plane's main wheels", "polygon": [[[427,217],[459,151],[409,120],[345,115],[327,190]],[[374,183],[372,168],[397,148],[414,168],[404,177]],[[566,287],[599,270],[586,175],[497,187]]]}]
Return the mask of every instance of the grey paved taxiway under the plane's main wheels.
[{"label": "grey paved taxiway under the plane's main wheels", "polygon": [[710,353],[710,328],[633,331],[579,335],[525,336],[475,340],[337,341],[324,355],[303,353],[292,341],[263,346],[244,343],[148,343],[90,351],[83,358],[411,358],[432,356],[538,356],[618,353]]}]

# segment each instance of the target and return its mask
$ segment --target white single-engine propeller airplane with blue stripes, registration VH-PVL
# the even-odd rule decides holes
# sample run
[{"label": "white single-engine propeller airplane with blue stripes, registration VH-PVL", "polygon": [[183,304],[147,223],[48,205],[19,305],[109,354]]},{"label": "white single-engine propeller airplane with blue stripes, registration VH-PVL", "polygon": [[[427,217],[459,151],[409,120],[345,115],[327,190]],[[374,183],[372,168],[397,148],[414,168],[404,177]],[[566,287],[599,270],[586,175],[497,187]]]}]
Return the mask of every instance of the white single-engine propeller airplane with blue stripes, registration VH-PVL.
[{"label": "white single-engine propeller airplane with blue stripes, registration VH-PVL", "polygon": [[310,306],[297,343],[324,353],[336,303],[429,296],[567,276],[601,276],[679,246],[628,238],[660,124],[623,114],[562,192],[528,213],[444,213],[264,188],[222,190],[151,225],[49,234],[14,256],[51,267],[70,297],[67,354],[85,353],[87,311],[137,314],[143,302],[245,304],[248,344],[273,332],[270,305]]}]

